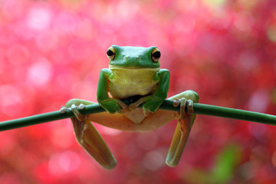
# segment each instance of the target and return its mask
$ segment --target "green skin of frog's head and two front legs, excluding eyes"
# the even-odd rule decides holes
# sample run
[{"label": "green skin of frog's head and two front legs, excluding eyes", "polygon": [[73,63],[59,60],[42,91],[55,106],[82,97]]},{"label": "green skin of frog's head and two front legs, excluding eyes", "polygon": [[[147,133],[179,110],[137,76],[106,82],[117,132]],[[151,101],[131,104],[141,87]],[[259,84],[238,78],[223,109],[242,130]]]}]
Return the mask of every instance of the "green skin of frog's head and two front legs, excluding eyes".
[{"label": "green skin of frog's head and two front legs, excluding eyes", "polygon": [[[159,61],[152,61],[152,50],[156,47],[140,48],[140,47],[120,47],[112,45],[115,49],[115,58],[110,60],[109,65],[119,68],[159,68]],[[110,113],[121,112],[121,105],[118,99],[113,99],[108,96],[108,81],[113,79],[112,70],[104,68],[99,74],[99,83],[97,88],[97,101],[105,110]],[[155,112],[161,103],[164,102],[168,95],[170,72],[166,69],[161,69],[156,72],[152,81],[158,81],[158,88],[153,94],[147,97],[143,105],[144,113]]]}]

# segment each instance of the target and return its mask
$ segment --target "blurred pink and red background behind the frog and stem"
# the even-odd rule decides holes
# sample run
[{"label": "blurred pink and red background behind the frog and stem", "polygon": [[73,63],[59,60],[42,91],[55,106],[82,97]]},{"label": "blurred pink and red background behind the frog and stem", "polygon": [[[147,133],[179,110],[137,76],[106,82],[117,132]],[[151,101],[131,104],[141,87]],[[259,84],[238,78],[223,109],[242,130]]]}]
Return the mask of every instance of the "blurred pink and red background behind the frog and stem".
[{"label": "blurred pink and red background behind the frog and stem", "polygon": [[[156,45],[169,96],[276,114],[276,2],[0,1],[0,121],[96,101],[112,44]],[[276,127],[198,115],[177,167],[176,121],[130,133],[97,129],[115,155],[103,170],[69,119],[0,132],[0,183],[276,183]]]}]

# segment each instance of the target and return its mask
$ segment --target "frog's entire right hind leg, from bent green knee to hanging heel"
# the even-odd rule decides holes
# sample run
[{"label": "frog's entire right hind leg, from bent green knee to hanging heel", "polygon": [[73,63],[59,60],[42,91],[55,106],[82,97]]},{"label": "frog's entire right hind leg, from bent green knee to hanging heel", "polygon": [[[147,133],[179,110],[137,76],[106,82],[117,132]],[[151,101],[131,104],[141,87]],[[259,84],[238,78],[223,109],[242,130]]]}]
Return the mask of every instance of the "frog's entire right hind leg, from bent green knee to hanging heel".
[{"label": "frog's entire right hind leg, from bent green knee to hanging heel", "polygon": [[[194,102],[199,101],[199,97],[197,93],[191,90],[172,96],[169,99],[172,99],[172,100],[181,99],[182,104],[180,104],[181,105],[180,107],[190,108],[190,110],[193,110],[193,101]],[[166,158],[167,165],[171,167],[175,167],[179,163],[184,147],[188,140],[188,136],[190,134],[190,130],[192,128],[193,122],[195,121],[195,114],[187,112],[184,115],[183,112],[185,113],[185,110],[182,110],[179,114],[176,114],[178,123],[175,129],[175,134],[172,138],[172,143],[170,144],[170,149],[168,150],[167,158]]]}]

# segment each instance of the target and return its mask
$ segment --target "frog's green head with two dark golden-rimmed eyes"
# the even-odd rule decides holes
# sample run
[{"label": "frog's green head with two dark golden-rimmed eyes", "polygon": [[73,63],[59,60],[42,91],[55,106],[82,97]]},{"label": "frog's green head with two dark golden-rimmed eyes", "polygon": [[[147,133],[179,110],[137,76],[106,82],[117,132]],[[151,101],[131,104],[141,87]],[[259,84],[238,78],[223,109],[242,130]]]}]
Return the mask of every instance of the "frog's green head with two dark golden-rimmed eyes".
[{"label": "frog's green head with two dark golden-rimmed eyes", "polygon": [[106,52],[110,68],[160,68],[161,56],[157,47],[120,47],[111,45]]}]

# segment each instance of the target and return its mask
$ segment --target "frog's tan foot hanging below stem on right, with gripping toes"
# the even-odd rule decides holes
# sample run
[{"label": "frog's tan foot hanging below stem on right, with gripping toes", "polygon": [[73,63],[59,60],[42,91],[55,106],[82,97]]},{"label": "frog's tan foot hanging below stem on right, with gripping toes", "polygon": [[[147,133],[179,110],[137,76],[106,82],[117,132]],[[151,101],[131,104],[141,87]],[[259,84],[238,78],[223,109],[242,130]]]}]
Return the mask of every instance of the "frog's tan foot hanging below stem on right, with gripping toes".
[{"label": "frog's tan foot hanging below stem on right, with gripping toes", "polygon": [[174,103],[176,107],[179,104],[180,110],[177,115],[178,123],[166,158],[166,163],[170,167],[175,167],[179,163],[194,120],[193,101],[183,98],[176,100]]}]

